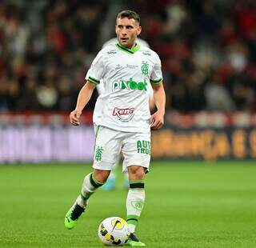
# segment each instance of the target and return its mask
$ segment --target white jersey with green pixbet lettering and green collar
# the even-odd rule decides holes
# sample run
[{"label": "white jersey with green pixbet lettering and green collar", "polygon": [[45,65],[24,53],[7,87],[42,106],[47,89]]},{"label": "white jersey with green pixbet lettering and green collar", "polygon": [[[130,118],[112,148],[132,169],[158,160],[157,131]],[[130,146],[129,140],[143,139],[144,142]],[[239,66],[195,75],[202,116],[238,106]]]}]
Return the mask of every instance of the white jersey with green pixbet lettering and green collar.
[{"label": "white jersey with green pixbet lettering and green collar", "polygon": [[150,130],[148,86],[162,82],[161,62],[153,50],[139,45],[132,50],[119,44],[106,46],[94,58],[86,79],[104,84],[105,92],[94,110],[96,125],[126,132]]}]

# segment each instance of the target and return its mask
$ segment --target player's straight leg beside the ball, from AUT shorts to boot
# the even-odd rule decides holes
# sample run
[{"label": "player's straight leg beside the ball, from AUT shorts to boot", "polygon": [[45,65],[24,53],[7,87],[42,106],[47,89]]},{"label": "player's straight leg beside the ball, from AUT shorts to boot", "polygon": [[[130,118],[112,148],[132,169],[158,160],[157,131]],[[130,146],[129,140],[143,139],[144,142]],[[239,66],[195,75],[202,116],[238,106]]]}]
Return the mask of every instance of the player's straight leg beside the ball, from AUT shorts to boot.
[{"label": "player's straight leg beside the ball, from AUT shorts to boot", "polygon": [[145,246],[135,235],[145,202],[145,171],[150,166],[150,134],[134,134],[126,139],[122,153],[123,170],[128,170],[130,188],[126,198],[127,222],[131,232],[128,246]]}]

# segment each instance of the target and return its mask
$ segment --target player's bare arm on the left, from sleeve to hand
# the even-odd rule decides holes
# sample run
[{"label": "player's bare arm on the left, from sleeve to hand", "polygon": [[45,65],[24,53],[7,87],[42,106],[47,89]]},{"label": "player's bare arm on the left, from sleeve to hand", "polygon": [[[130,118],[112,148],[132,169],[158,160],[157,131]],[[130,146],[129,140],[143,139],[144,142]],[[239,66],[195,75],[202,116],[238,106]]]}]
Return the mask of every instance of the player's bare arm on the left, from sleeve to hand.
[{"label": "player's bare arm on the left, from sleeve to hand", "polygon": [[78,94],[77,106],[75,110],[70,113],[70,123],[74,126],[79,126],[79,118],[82,114],[82,110],[86,106],[86,104],[90,101],[90,98],[94,92],[95,84],[87,80],[86,84],[82,86]]}]

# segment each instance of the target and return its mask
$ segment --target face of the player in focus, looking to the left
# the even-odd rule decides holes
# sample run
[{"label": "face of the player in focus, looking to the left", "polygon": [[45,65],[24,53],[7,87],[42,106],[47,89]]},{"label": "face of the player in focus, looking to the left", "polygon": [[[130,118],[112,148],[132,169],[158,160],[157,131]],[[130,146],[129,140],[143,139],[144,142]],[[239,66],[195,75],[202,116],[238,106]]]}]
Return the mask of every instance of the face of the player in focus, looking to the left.
[{"label": "face of the player in focus, looking to the left", "polygon": [[115,32],[120,45],[127,48],[134,48],[136,38],[142,31],[142,27],[134,19],[118,18]]}]

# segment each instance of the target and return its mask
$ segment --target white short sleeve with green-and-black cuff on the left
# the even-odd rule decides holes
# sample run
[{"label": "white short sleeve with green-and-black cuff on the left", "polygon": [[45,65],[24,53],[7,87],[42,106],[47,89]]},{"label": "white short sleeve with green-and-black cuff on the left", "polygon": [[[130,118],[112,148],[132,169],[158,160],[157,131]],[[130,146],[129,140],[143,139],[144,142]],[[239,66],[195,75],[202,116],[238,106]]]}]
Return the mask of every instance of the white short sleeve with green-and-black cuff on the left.
[{"label": "white short sleeve with green-and-black cuff on the left", "polygon": [[93,82],[95,85],[98,85],[100,80],[102,79],[102,75],[104,73],[103,66],[103,54],[102,50],[97,54],[94,61],[91,63],[90,69],[87,71],[86,80]]}]

